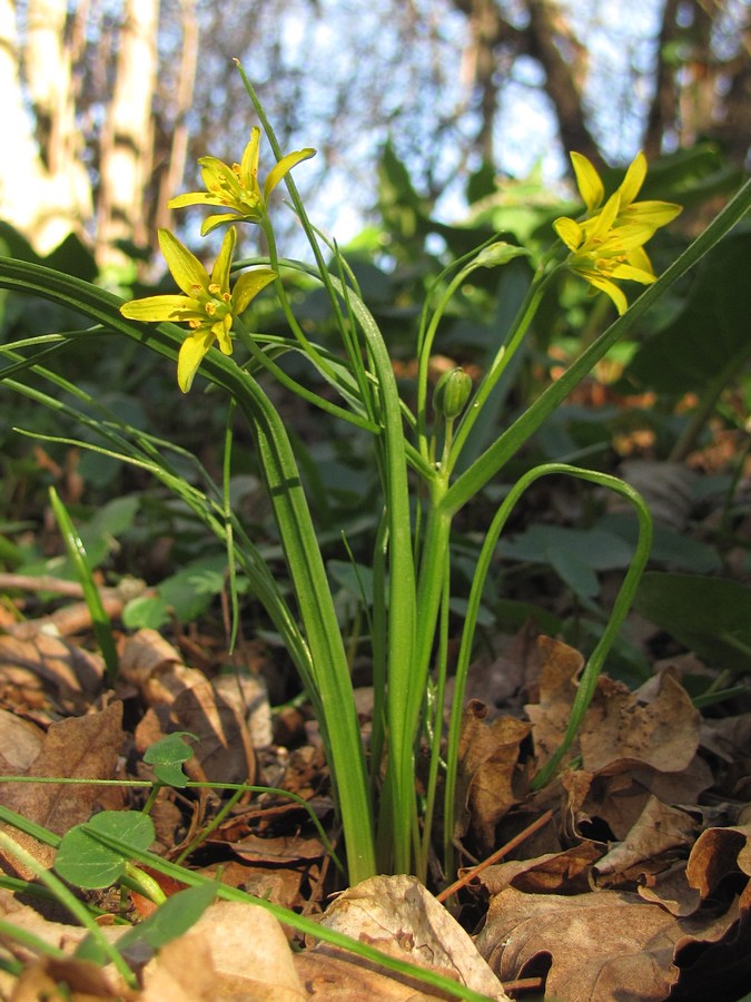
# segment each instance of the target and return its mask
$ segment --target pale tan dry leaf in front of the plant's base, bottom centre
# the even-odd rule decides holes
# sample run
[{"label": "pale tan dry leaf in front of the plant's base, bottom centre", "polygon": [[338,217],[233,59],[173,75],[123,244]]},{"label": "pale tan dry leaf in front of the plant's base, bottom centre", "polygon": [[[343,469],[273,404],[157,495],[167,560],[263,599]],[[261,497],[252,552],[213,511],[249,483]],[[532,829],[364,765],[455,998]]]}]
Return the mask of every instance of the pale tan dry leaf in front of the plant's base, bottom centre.
[{"label": "pale tan dry leaf in front of the plant's base, bottom centre", "polygon": [[[490,999],[507,1000],[467,933],[416,877],[377,876],[349,887],[326,911],[322,925],[453,978]],[[326,944],[314,950],[328,952]],[[352,963],[363,966],[357,959]],[[394,980],[402,981],[396,975]]]}]

